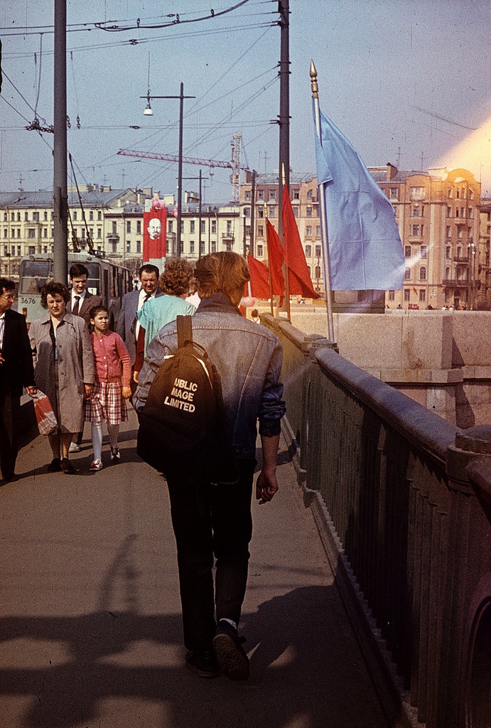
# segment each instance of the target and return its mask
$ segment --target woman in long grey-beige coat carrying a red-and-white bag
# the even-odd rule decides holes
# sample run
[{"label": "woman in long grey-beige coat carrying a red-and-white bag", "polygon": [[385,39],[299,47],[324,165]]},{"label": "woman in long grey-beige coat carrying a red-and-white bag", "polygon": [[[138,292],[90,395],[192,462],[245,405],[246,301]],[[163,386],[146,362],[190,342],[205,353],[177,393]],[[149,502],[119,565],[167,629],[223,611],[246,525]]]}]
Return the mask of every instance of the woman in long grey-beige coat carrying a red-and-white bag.
[{"label": "woman in long grey-beige coat carrying a red-and-white bag", "polygon": [[89,330],[84,319],[66,311],[70,292],[63,283],[47,282],[41,290],[41,305],[48,313],[33,321],[29,329],[35,354],[36,384],[48,395],[58,430],[49,435],[53,459],[49,472],[75,472],[68,459],[74,432],[84,427],[84,397],[95,382],[95,363]]}]

